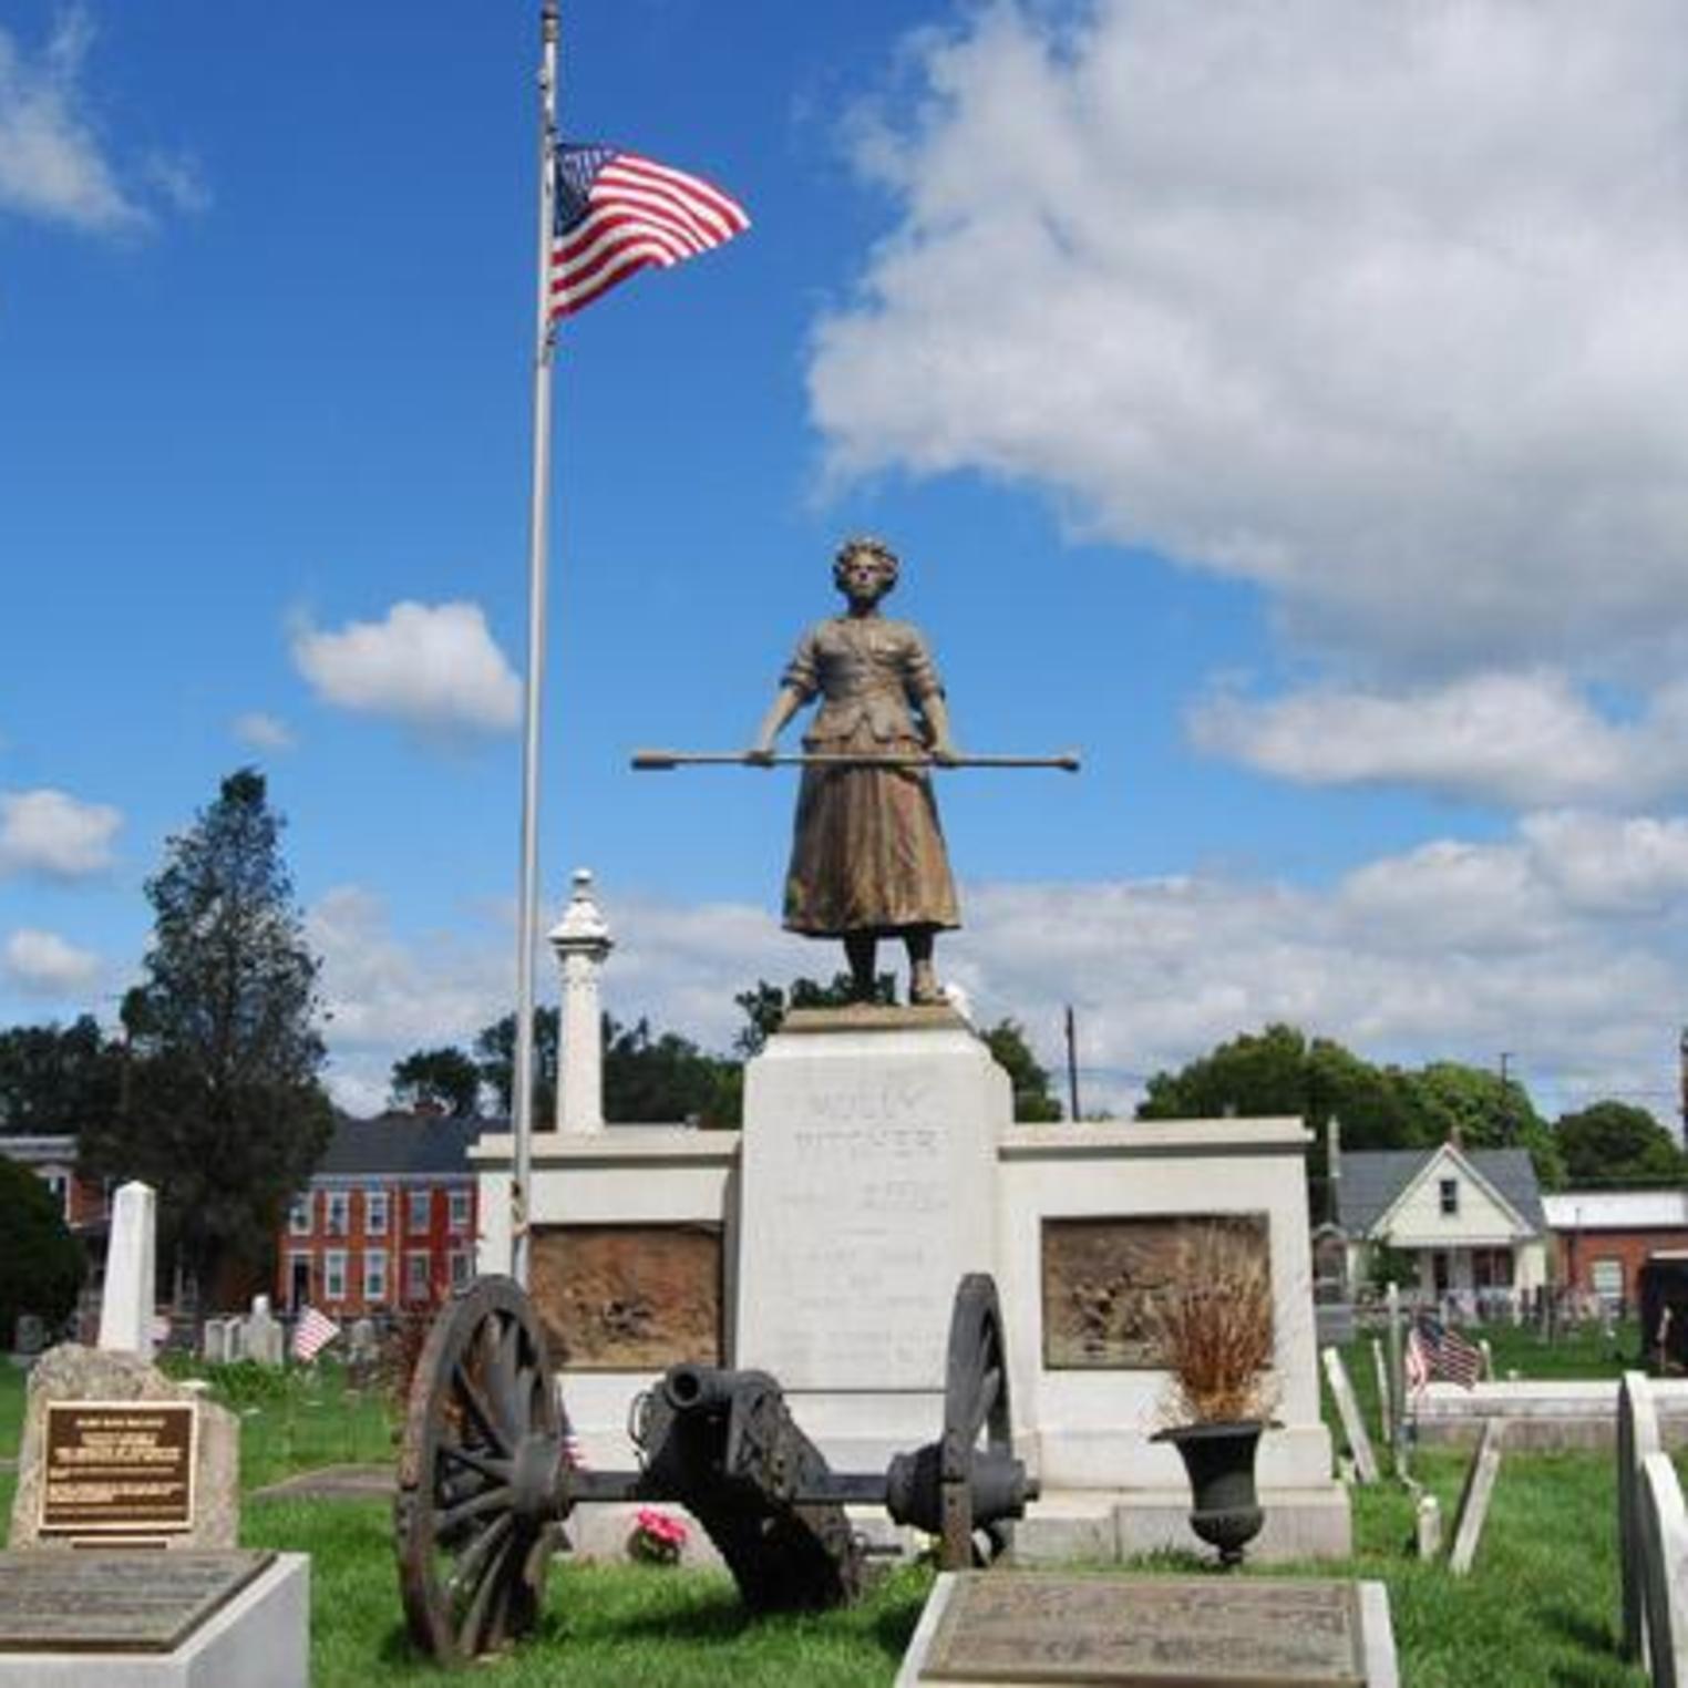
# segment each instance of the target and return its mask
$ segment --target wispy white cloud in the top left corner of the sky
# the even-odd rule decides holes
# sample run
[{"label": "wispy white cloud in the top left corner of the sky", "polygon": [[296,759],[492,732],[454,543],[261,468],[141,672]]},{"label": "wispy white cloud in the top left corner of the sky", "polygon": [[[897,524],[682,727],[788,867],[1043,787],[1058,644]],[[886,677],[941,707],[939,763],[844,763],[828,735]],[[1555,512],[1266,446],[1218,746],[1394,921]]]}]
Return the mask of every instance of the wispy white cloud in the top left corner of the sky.
[{"label": "wispy white cloud in the top left corner of the sky", "polygon": [[91,39],[81,8],[61,15],[39,57],[0,30],[0,211],[123,233],[149,218],[118,181],[88,113],[81,68]]}]

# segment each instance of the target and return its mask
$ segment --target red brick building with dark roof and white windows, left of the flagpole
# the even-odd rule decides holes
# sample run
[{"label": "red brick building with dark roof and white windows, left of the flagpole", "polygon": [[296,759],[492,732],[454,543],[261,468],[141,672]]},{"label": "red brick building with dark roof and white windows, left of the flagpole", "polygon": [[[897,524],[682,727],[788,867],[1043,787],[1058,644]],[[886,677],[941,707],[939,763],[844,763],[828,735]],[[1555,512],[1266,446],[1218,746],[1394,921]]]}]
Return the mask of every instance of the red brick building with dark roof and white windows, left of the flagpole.
[{"label": "red brick building with dark roof and white windows, left of the flagpole", "polygon": [[277,1307],[378,1317],[468,1283],[476,1237],[468,1155],[488,1126],[439,1114],[341,1119],[282,1225]]}]

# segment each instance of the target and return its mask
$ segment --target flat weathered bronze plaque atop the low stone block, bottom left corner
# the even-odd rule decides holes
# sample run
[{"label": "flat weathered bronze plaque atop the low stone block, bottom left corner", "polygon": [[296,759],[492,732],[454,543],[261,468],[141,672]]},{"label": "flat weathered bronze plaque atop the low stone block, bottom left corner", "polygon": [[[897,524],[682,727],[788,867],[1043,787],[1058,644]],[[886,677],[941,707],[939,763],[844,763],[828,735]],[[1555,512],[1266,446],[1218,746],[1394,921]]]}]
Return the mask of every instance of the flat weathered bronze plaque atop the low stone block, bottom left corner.
[{"label": "flat weathered bronze plaque atop the low stone block, bottom left corner", "polygon": [[0,1553],[0,1654],[170,1653],[273,1553]]}]

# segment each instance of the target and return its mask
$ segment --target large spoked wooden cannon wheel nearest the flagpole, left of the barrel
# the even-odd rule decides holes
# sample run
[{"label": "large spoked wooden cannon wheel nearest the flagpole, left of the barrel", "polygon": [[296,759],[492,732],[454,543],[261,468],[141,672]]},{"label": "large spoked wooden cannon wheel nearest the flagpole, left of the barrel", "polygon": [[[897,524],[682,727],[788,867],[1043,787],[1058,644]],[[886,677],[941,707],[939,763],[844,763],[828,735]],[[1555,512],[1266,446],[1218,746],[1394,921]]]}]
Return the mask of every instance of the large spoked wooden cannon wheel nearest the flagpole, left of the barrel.
[{"label": "large spoked wooden cannon wheel nearest the flagpole, left of the barrel", "polygon": [[441,1310],[417,1361],[393,1507],[410,1636],[441,1663],[533,1627],[562,1445],[532,1305],[515,1280],[478,1278]]}]

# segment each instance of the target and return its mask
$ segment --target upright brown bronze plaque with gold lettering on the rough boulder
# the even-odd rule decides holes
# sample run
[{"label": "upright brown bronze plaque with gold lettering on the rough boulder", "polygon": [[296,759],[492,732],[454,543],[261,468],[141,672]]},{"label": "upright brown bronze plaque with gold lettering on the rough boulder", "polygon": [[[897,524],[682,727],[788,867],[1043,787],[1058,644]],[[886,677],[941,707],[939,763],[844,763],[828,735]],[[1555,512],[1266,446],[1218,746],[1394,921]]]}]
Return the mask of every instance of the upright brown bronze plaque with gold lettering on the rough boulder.
[{"label": "upright brown bronze plaque with gold lettering on the rough boulder", "polygon": [[49,1401],[44,1536],[157,1536],[194,1526],[192,1401]]}]

